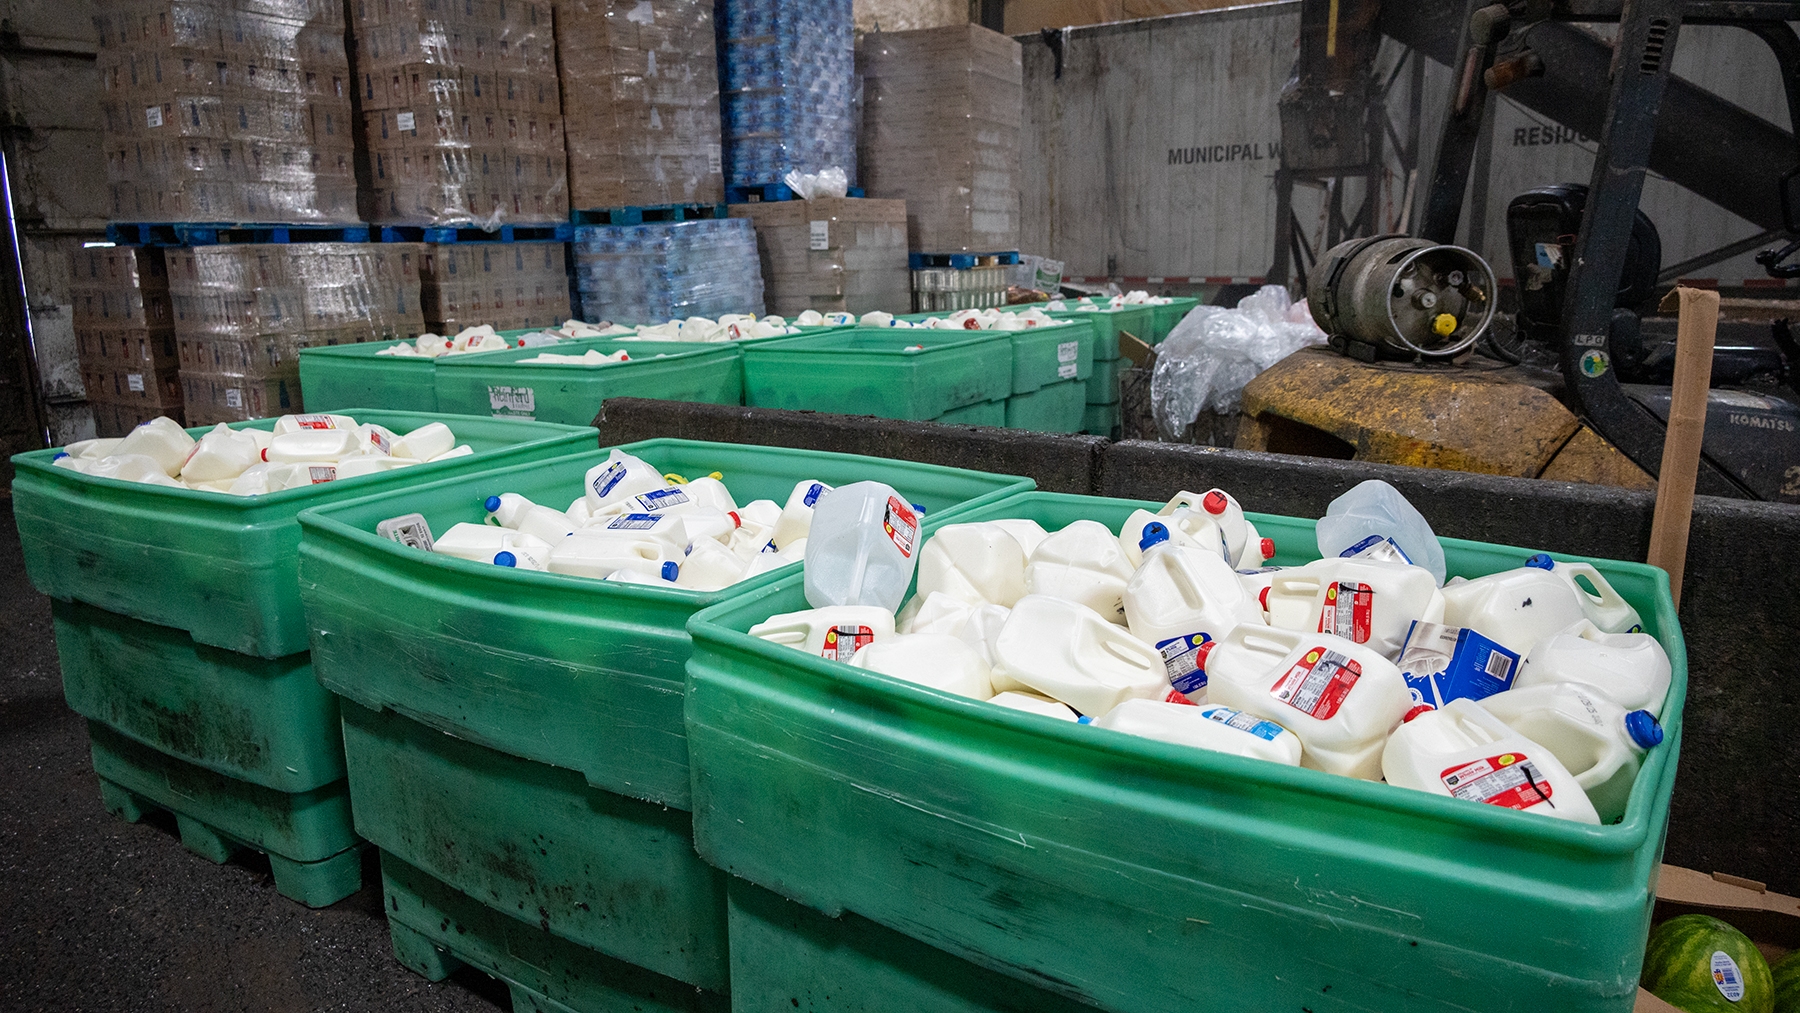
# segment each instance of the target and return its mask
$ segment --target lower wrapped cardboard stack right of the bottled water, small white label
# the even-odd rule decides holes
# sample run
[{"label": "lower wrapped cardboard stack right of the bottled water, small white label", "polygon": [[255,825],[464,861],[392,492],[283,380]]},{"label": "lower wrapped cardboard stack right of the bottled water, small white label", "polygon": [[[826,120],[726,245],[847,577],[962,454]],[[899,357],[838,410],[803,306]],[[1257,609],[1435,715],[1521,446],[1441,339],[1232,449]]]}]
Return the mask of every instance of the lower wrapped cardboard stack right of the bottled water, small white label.
[{"label": "lower wrapped cardboard stack right of the bottled water, small white label", "polygon": [[770,313],[904,313],[907,291],[905,202],[783,200],[731,205],[756,225],[763,302]]}]

